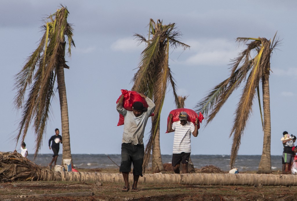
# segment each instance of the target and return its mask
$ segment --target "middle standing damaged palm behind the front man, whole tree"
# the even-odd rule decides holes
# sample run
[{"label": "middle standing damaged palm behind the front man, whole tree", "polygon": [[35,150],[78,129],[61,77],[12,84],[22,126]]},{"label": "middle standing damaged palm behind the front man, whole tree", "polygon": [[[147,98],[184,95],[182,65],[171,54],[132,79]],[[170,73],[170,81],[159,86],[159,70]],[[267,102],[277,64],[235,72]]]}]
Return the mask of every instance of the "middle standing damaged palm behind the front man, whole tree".
[{"label": "middle standing damaged palm behind the front man, whole tree", "polygon": [[152,172],[164,170],[160,151],[160,114],[168,84],[171,85],[175,102],[178,103],[175,82],[168,64],[169,48],[175,49],[181,46],[185,50],[190,47],[177,40],[181,33],[176,31],[174,26],[175,23],[163,25],[160,20],[155,23],[150,19],[149,38],[135,34],[140,42],[146,43],[146,48],[141,53],[141,61],[133,78],[132,90],[145,93],[156,105],[143,162],[143,170],[145,170],[152,152]]}]

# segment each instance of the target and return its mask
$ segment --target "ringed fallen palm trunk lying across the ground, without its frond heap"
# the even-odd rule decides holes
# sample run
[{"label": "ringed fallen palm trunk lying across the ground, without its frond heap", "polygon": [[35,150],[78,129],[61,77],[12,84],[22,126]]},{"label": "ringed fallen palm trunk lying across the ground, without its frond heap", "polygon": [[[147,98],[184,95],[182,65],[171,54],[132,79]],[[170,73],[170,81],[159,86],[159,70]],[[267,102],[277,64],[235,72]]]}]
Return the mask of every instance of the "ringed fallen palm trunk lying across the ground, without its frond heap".
[{"label": "ringed fallen palm trunk lying across the ground, without its frond heap", "polygon": [[[85,181],[85,182],[124,182],[120,173],[94,173],[94,172],[59,172],[42,170],[41,181]],[[129,183],[133,182],[130,174]],[[263,186],[297,186],[296,175],[274,174],[143,174],[138,183],[148,184],[187,184],[187,185],[255,185]]]}]

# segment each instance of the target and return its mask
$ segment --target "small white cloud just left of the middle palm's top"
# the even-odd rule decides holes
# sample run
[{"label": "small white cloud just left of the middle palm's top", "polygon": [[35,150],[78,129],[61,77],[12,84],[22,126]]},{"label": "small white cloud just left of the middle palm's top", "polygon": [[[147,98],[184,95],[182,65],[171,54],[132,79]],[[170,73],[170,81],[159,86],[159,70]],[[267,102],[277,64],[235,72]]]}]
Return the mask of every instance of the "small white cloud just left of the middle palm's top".
[{"label": "small white cloud just left of the middle palm's top", "polygon": [[129,38],[121,38],[118,39],[116,42],[111,44],[110,48],[115,51],[121,52],[132,52],[132,51],[142,51],[145,48],[145,44],[141,43],[138,44],[138,41],[129,37]]}]

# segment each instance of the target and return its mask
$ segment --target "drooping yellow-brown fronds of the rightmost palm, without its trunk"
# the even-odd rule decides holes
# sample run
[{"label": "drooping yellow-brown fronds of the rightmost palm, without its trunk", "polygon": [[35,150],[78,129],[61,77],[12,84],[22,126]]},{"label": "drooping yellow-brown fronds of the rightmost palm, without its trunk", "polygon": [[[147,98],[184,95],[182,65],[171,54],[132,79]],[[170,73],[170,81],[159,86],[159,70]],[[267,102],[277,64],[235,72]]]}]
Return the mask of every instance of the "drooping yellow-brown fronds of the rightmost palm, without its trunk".
[{"label": "drooping yellow-brown fronds of the rightmost palm, without its trunk", "polygon": [[[247,44],[249,40],[252,40],[252,42]],[[247,48],[243,50],[236,59],[232,60],[230,77],[215,86],[195,107],[196,112],[201,111],[204,114],[207,125],[219,112],[230,94],[245,82],[241,99],[236,108],[233,128],[230,133],[230,137],[233,135],[230,157],[230,166],[232,168],[241,143],[241,136],[244,132],[249,115],[252,113],[252,104],[256,90],[259,88],[259,83],[264,75],[269,74],[270,55],[273,48],[275,48],[279,42],[277,40],[274,45],[271,45],[271,41],[266,38],[237,38],[236,41],[246,44]],[[252,56],[252,53],[255,53],[255,56]]]}]

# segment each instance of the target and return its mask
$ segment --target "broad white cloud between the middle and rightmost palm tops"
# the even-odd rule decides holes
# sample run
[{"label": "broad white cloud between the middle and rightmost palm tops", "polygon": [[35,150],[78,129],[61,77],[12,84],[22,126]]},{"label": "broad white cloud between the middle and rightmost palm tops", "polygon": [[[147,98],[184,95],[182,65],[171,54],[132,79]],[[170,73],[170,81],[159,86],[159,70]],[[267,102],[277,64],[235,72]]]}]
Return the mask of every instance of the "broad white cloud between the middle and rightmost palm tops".
[{"label": "broad white cloud between the middle and rightmost palm tops", "polygon": [[228,65],[230,59],[236,58],[239,52],[234,41],[228,42],[220,38],[198,39],[188,41],[187,44],[191,44],[191,52],[195,52],[186,60],[190,65]]}]

